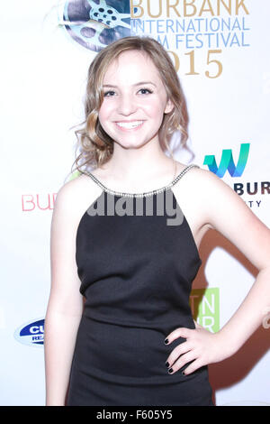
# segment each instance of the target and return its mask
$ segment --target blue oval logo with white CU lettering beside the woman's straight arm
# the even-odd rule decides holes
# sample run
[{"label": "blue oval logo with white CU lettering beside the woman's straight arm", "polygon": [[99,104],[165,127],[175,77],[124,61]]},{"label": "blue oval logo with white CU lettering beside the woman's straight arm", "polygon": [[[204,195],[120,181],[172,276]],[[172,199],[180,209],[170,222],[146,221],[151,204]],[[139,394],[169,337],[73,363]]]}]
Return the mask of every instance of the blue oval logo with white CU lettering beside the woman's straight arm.
[{"label": "blue oval logo with white CU lettering beside the woman's straight arm", "polygon": [[16,329],[15,339],[27,346],[44,345],[44,319],[31,321]]}]

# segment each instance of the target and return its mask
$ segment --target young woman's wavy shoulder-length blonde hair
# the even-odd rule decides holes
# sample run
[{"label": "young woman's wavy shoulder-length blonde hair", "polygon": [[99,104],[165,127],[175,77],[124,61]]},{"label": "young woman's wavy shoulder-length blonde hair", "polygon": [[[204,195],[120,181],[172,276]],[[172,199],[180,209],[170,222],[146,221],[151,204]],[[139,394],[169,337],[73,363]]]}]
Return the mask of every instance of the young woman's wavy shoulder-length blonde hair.
[{"label": "young woman's wavy shoulder-length blonde hair", "polygon": [[[98,168],[109,161],[113,153],[113,140],[99,123],[98,111],[103,103],[103,78],[113,60],[124,51],[142,51],[153,61],[166,88],[167,97],[173,102],[173,110],[164,115],[159,129],[159,143],[173,157],[170,141],[175,131],[180,131],[181,145],[186,147],[188,115],[183,89],[169,54],[159,42],[150,37],[131,36],[112,42],[100,51],[88,69],[85,96],[85,121],[75,131],[76,170],[84,173],[88,167]],[[78,152],[78,154],[77,154]],[[71,168],[71,169],[72,169]]]}]

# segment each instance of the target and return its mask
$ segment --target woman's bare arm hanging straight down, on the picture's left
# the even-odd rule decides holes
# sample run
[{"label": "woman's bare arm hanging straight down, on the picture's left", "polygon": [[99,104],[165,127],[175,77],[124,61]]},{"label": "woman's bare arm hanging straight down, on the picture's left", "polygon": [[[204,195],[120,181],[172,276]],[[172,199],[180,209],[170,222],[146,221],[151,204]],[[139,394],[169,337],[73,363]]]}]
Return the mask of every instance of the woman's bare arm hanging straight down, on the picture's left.
[{"label": "woman's bare arm hanging straight down, on the picture's left", "polygon": [[76,268],[75,181],[58,191],[50,228],[49,303],[45,317],[46,406],[64,406],[69,374],[82,317],[83,297]]}]

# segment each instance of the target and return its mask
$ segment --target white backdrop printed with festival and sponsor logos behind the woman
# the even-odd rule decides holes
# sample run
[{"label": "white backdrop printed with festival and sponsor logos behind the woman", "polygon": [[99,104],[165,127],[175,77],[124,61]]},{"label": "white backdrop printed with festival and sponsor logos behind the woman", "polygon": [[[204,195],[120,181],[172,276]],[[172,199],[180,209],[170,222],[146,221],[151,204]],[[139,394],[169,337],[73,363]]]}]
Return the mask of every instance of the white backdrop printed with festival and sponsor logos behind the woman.
[{"label": "white backdrop printed with festival and sponsor logos behind the woman", "polygon": [[[178,150],[175,159],[216,173],[269,226],[270,4],[6,0],[1,6],[0,404],[44,405],[50,221],[75,159],[71,127],[83,120],[91,60],[130,34],[159,41],[175,63],[190,115],[189,150]],[[214,230],[200,254],[190,302],[194,318],[215,332],[238,309],[257,270]],[[270,314],[236,355],[210,365],[218,406],[270,405],[269,327]]]}]

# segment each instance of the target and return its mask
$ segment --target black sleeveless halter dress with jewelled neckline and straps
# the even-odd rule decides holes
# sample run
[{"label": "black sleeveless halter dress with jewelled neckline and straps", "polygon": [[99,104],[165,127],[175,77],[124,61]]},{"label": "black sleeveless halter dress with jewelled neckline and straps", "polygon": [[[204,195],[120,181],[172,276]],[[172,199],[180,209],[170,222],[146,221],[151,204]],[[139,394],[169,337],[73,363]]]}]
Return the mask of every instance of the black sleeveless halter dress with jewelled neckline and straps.
[{"label": "black sleeveless halter dress with jewelled neckline and straps", "polygon": [[76,233],[76,264],[85,309],[76,336],[67,406],[211,406],[208,367],[170,374],[166,358],[184,342],[164,340],[194,328],[189,305],[202,264],[171,189],[143,195],[103,189]]}]

